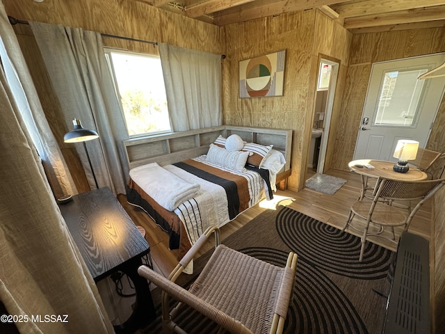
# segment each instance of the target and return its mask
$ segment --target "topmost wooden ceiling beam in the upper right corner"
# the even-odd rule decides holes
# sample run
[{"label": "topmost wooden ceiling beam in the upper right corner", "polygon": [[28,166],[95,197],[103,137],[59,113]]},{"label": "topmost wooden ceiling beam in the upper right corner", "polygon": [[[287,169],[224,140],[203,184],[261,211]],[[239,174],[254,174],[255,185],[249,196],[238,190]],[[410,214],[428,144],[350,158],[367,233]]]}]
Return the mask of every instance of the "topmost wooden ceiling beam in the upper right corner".
[{"label": "topmost wooden ceiling beam in the upper right corner", "polygon": [[332,7],[341,17],[378,15],[385,12],[398,12],[412,8],[425,8],[445,5],[444,0],[368,0],[335,4]]}]

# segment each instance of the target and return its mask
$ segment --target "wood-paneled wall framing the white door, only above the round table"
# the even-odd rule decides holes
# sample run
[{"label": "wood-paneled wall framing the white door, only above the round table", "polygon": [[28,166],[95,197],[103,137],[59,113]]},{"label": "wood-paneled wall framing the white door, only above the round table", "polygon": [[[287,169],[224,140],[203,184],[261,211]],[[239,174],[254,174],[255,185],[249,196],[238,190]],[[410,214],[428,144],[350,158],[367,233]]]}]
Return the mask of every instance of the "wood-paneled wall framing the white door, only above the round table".
[{"label": "wood-paneled wall framing the white door, only above the round table", "polygon": [[[445,29],[387,31],[353,35],[348,82],[343,95],[341,120],[337,127],[336,151],[332,167],[346,170],[353,159],[355,141],[362,116],[371,65],[380,61],[421,56],[445,51]],[[445,106],[439,109],[427,148],[444,152]]]}]

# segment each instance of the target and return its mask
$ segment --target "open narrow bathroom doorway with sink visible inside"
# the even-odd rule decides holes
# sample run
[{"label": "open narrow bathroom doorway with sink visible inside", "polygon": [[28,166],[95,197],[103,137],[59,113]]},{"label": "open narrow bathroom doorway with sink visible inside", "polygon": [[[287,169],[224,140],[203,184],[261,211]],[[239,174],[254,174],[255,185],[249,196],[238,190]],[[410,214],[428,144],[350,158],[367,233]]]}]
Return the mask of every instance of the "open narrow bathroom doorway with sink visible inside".
[{"label": "open narrow bathroom doorway with sink visible inside", "polygon": [[329,137],[338,74],[338,61],[320,58],[306,180],[316,173],[323,174],[325,168],[327,138]]}]

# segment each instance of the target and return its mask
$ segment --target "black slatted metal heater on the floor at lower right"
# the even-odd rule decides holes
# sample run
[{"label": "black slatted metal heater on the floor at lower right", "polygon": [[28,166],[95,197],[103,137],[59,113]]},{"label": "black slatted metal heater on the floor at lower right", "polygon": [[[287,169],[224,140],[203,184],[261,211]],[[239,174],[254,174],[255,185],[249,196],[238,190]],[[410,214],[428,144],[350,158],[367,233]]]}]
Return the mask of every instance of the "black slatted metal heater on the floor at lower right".
[{"label": "black slatted metal heater on the floor at lower right", "polygon": [[387,306],[385,333],[429,333],[428,241],[404,232]]}]

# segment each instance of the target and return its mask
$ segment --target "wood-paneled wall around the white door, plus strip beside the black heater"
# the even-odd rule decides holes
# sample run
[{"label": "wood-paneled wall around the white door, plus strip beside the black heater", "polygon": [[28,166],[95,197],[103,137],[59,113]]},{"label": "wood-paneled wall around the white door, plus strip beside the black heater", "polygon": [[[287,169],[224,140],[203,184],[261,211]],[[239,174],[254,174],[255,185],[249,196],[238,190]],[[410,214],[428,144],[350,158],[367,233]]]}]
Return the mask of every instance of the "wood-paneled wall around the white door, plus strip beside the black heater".
[{"label": "wood-paneled wall around the white door, plus strip beside the black heater", "polygon": [[[337,125],[337,138],[334,145],[332,167],[346,170],[348,161],[353,159],[355,141],[366,89],[371,74],[372,63],[390,61],[398,58],[435,54],[445,51],[445,29],[417,29],[364,33],[353,35],[350,49],[350,65],[346,77],[341,114]],[[445,152],[445,99],[432,127],[426,148]],[[440,175],[445,159],[433,165],[432,172]],[[435,212],[432,220],[431,259],[432,259],[432,303],[435,312],[435,331],[445,328],[442,310],[445,308],[445,189],[435,196]],[[435,306],[434,306],[435,304]]]}]

